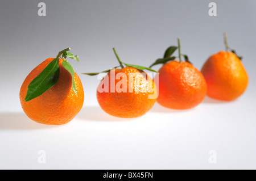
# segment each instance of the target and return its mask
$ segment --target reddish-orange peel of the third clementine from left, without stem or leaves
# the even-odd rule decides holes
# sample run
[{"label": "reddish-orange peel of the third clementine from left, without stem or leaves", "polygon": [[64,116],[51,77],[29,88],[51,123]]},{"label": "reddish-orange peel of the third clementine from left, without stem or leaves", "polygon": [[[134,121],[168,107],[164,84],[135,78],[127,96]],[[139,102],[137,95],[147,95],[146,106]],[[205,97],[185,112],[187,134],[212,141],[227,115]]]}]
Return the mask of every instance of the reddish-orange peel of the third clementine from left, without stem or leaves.
[{"label": "reddish-orange peel of the third clementine from left, without stem or leaves", "polygon": [[160,105],[185,110],[200,104],[206,94],[205,78],[192,64],[170,61],[160,68],[157,99]]}]

